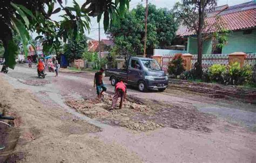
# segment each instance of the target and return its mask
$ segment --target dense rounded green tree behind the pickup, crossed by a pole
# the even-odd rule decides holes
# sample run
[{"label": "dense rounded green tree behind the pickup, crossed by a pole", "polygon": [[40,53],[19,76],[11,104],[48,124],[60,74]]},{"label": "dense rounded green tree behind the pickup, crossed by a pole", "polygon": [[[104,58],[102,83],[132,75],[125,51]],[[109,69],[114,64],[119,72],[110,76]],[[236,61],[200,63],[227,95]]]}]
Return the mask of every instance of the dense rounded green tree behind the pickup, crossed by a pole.
[{"label": "dense rounded green tree behind the pickup, crossed by a pole", "polygon": [[[107,34],[123,55],[143,55],[145,8],[138,5],[131,11],[125,10],[120,24],[113,24]],[[147,48],[164,48],[176,37],[178,24],[170,10],[157,9],[149,4],[147,18]]]}]

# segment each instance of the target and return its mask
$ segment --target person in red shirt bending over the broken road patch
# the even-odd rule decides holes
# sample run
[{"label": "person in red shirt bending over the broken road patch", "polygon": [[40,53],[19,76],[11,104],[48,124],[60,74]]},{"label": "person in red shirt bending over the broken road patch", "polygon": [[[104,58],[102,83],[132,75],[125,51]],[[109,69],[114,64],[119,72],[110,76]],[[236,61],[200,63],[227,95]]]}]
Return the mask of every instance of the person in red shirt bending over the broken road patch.
[{"label": "person in red shirt bending over the broken road patch", "polygon": [[112,109],[114,109],[114,107],[116,106],[117,100],[119,97],[121,98],[119,109],[121,109],[123,106],[123,102],[125,101],[125,98],[126,98],[126,93],[127,93],[126,85],[123,83],[122,79],[118,79],[118,81],[119,82],[114,87],[114,96],[112,98]]}]

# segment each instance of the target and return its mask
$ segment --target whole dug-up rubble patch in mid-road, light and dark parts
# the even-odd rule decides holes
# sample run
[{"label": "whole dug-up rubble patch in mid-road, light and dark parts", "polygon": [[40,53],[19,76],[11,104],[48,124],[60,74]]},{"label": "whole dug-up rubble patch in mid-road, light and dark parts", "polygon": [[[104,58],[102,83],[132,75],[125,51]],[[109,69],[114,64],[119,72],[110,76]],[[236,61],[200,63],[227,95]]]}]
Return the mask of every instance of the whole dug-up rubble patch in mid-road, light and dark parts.
[{"label": "whole dug-up rubble patch in mid-road, light and dark parts", "polygon": [[192,129],[196,131],[211,132],[207,125],[212,123],[212,117],[199,112],[196,108],[179,105],[151,103],[150,105],[138,104],[137,101],[127,100],[123,108],[110,110],[112,97],[105,94],[104,98],[68,100],[66,104],[79,113],[90,118],[95,118],[103,123],[122,126],[133,131],[150,131],[161,127],[180,128],[183,130]]}]

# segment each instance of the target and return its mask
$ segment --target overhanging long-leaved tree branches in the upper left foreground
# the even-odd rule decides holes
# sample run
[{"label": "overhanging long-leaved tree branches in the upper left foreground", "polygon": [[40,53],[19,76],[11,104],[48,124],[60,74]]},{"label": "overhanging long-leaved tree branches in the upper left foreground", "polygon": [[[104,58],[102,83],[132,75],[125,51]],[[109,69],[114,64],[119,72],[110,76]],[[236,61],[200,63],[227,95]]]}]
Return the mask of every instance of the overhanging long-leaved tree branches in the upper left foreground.
[{"label": "overhanging long-leaved tree branches in the upper left foreground", "polygon": [[[125,8],[129,8],[129,2],[130,0],[85,0],[81,7],[76,1],[73,1],[73,7],[68,7],[63,6],[62,0],[0,1],[0,40],[5,49],[6,64],[14,69],[18,47],[13,40],[13,31],[17,31],[21,37],[25,53],[28,52],[26,45],[30,40],[28,31],[36,31],[42,35],[38,38],[44,37],[43,50],[49,51],[52,46],[57,49],[60,40],[76,39],[85,30],[89,30],[89,16],[97,16],[99,22],[104,15],[104,29],[107,30],[110,24],[118,23],[119,17],[123,17]],[[56,3],[61,7],[53,10]],[[50,16],[60,10],[65,11],[63,21],[52,21]]]}]

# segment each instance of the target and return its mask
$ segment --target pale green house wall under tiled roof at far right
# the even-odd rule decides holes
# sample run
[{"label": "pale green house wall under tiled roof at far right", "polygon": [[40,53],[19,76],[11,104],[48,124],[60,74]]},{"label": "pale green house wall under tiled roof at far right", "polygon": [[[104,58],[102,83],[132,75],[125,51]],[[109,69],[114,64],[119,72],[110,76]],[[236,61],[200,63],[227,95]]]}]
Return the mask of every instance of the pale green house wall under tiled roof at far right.
[{"label": "pale green house wall under tiled roof at far right", "polygon": [[251,34],[244,35],[243,31],[233,32],[228,37],[227,45],[223,47],[222,53],[229,54],[236,51],[256,52],[256,29]]}]

